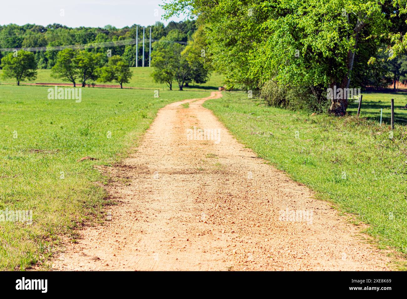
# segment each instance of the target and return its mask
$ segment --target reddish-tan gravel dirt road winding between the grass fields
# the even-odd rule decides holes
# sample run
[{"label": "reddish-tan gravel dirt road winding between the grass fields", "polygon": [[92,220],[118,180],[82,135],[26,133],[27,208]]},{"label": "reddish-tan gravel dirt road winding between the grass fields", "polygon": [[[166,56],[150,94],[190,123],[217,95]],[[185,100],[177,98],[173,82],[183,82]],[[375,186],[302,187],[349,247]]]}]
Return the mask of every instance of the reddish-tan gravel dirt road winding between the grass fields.
[{"label": "reddish-tan gravel dirt road winding between the grass fields", "polygon": [[[53,268],[388,269],[389,258],[354,225],[244,148],[202,107],[219,96],[167,105],[130,157],[103,168],[121,179],[107,187],[119,203],[112,220],[81,230]],[[199,140],[201,129],[210,140]]]}]

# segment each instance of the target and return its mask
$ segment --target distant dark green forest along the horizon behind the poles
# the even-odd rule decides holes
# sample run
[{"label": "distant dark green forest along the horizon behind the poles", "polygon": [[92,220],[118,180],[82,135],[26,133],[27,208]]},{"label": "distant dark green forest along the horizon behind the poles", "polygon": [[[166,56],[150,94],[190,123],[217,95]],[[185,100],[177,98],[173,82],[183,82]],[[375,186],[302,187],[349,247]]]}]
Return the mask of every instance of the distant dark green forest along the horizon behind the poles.
[{"label": "distant dark green forest along the horizon behind the poles", "polygon": [[[26,24],[19,26],[9,24],[0,26],[0,48],[31,48],[44,46],[68,46],[77,44],[92,44],[106,41],[120,41],[125,39],[136,39],[138,26],[138,39],[142,39],[142,26],[134,24],[123,28],[114,26],[104,26],[103,28],[78,27],[70,28],[61,24],[50,24],[41,26],[36,24]],[[184,22],[169,22],[164,26],[162,22],[156,22],[154,25],[147,26],[145,29],[146,47],[144,48],[144,63],[148,65],[149,47],[148,39],[151,28],[151,39],[159,40],[165,37],[171,31],[182,33],[186,42],[196,30],[194,20]],[[93,53],[106,52],[105,48],[94,48],[88,50]],[[142,65],[143,49],[141,42],[138,45],[116,46],[112,48],[113,55],[119,55],[130,66]],[[7,55],[0,51],[0,59]],[[34,52],[34,59],[39,69],[53,68],[57,62],[57,51],[37,51]],[[136,58],[137,57],[137,58]],[[107,59],[105,59],[107,62]]]}]

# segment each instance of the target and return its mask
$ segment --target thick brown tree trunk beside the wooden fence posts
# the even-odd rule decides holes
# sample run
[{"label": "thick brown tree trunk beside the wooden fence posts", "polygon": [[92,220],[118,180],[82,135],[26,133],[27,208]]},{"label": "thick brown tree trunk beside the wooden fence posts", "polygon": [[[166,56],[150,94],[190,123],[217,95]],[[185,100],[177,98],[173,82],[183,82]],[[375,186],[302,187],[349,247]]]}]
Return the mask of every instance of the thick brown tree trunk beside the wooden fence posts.
[{"label": "thick brown tree trunk beside the wooden fence posts", "polygon": [[[353,69],[353,63],[354,63],[354,58],[355,58],[355,52],[356,52],[356,47],[357,43],[359,40],[360,32],[362,31],[363,27],[365,26],[365,22],[360,21],[359,19],[356,22],[356,26],[353,29],[353,36],[355,38],[355,45],[353,50],[348,51],[348,73],[346,76],[342,79],[340,88],[342,88],[342,98],[337,99],[336,96],[333,96],[331,98],[331,105],[328,109],[328,113],[333,113],[336,116],[344,116],[346,114],[346,108],[348,108],[348,98],[346,92],[344,92],[345,88],[349,88],[350,85],[350,76],[352,74],[352,69]],[[333,89],[333,86],[336,85],[336,83],[332,83],[330,88]]]}]

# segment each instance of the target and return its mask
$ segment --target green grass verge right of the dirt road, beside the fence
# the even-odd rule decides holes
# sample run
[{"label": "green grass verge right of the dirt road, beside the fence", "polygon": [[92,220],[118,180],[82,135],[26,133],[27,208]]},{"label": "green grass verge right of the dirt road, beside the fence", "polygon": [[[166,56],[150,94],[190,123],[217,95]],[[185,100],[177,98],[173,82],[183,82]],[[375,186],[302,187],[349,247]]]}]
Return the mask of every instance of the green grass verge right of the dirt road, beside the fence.
[{"label": "green grass verge right of the dirt road, beside the fence", "polygon": [[390,139],[389,125],[380,127],[375,120],[377,107],[388,106],[385,99],[392,97],[363,95],[363,115],[370,119],[310,116],[266,106],[241,92],[227,92],[204,106],[259,157],[311,187],[319,199],[353,214],[355,224],[369,224],[366,231],[380,247],[407,253],[407,142],[400,141],[407,127],[396,124]]}]

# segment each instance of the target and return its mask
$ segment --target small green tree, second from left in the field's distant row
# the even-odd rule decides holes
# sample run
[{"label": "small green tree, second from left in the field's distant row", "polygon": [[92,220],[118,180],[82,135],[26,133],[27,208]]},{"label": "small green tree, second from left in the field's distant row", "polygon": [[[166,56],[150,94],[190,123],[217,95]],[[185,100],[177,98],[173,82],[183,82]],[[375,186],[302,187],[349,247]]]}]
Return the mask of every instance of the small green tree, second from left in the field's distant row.
[{"label": "small green tree, second from left in the field's distant row", "polygon": [[72,82],[75,87],[75,81],[79,76],[77,65],[74,63],[75,57],[76,52],[73,49],[67,48],[60,51],[57,56],[57,63],[51,69],[51,76]]}]

